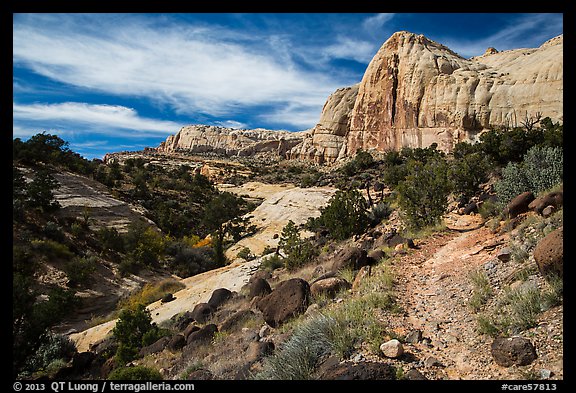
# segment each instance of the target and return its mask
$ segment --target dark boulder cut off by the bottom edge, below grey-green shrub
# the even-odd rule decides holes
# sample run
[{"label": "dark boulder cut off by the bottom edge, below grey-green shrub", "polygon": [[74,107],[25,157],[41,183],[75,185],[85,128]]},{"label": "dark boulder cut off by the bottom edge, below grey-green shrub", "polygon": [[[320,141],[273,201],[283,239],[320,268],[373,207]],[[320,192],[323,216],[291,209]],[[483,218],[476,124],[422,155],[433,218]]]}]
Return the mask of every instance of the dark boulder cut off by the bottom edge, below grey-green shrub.
[{"label": "dark boulder cut off by the bottom edge, below grey-green shrub", "polygon": [[322,380],[394,380],[396,370],[388,363],[338,363],[320,375]]}]

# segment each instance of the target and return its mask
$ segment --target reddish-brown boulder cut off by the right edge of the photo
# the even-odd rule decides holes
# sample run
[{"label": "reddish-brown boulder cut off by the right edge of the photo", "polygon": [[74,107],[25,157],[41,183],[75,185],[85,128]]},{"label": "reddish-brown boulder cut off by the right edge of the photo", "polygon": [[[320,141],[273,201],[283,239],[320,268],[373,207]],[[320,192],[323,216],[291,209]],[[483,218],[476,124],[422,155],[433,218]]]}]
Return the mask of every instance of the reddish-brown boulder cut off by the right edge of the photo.
[{"label": "reddish-brown boulder cut off by the right edge of the photo", "polygon": [[564,226],[550,232],[534,249],[534,260],[542,275],[564,275]]}]

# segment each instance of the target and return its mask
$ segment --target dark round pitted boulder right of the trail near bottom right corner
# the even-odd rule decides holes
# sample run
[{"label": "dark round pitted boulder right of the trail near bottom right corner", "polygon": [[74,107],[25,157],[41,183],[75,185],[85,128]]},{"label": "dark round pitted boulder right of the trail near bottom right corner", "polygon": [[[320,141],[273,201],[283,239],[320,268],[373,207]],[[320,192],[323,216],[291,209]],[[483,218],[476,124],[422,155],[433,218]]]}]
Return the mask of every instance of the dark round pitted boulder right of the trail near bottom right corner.
[{"label": "dark round pitted boulder right of the trail near bottom right corner", "polygon": [[536,358],[536,348],[524,337],[498,337],[491,345],[494,361],[504,367],[527,366]]}]

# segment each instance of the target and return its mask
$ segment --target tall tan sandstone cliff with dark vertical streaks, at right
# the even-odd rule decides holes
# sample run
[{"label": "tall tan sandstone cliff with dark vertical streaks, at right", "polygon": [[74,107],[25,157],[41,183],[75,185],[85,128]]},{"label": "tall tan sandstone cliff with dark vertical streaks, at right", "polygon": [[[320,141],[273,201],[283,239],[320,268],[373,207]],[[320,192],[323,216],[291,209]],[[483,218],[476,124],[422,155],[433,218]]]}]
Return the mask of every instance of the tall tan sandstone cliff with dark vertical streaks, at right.
[{"label": "tall tan sandstone cliff with dark vertical streaks, at right", "polygon": [[490,126],[520,126],[537,114],[563,120],[562,36],[537,49],[489,48],[464,59],[402,31],[376,53],[359,85],[328,98],[312,135],[290,156],[334,162],[358,149],[432,143],[451,151]]}]

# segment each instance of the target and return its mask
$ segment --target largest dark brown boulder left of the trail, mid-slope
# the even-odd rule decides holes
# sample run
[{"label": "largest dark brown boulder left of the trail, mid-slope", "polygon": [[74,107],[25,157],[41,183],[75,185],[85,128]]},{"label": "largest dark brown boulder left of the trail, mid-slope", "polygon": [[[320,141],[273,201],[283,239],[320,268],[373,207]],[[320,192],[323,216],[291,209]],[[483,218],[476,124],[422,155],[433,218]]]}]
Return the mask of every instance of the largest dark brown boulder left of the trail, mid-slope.
[{"label": "largest dark brown boulder left of the trail, mid-slope", "polygon": [[277,327],[287,319],[301,314],[308,307],[310,285],[301,278],[280,282],[276,288],[258,302],[258,309],[266,323]]}]

